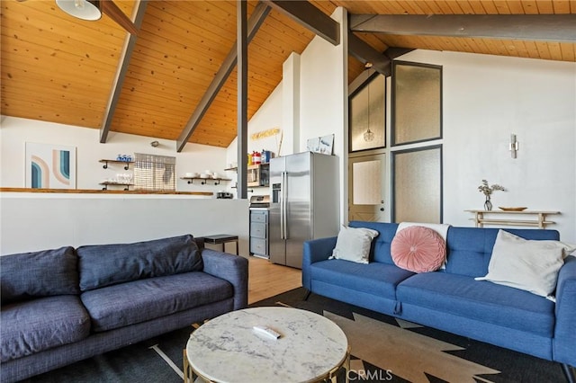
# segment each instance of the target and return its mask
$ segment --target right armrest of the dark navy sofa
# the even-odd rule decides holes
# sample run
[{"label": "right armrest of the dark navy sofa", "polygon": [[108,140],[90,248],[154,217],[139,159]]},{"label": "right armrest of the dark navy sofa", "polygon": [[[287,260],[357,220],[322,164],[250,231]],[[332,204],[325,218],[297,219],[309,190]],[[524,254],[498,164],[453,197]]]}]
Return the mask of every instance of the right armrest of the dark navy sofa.
[{"label": "right armrest of the dark navy sofa", "polygon": [[234,309],[248,304],[248,260],[242,256],[202,249],[203,272],[229,281],[234,288]]}]

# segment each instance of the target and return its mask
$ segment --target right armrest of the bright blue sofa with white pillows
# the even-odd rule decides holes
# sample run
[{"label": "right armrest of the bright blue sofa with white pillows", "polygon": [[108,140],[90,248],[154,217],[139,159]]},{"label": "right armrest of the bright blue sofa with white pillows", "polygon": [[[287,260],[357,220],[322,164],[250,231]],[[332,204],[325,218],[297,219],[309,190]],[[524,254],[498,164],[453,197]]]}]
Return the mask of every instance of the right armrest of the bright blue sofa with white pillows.
[{"label": "right armrest of the bright blue sofa with white pillows", "polygon": [[576,257],[568,256],[556,285],[554,361],[576,366]]}]

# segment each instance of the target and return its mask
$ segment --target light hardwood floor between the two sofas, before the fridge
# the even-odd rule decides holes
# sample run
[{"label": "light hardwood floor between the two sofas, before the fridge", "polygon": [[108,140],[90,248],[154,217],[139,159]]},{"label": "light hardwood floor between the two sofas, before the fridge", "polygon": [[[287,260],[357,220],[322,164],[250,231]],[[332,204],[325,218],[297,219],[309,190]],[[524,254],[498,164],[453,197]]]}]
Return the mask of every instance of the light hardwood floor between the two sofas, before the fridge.
[{"label": "light hardwood floor between the two sofas, before the fridge", "polygon": [[302,271],[266,259],[248,258],[248,304],[302,286]]}]

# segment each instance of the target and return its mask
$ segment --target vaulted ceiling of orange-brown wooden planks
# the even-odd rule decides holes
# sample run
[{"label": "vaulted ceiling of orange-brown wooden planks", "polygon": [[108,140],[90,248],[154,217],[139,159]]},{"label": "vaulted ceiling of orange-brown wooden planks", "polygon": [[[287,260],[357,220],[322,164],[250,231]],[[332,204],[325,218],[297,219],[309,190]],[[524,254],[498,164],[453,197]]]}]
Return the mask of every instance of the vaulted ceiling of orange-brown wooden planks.
[{"label": "vaulted ceiling of orange-brown wooden planks", "polygon": [[[131,16],[138,2],[114,0]],[[323,13],[484,15],[576,14],[576,1],[311,1]],[[248,16],[257,1],[248,1]],[[3,115],[175,140],[236,41],[235,1],[148,1],[118,95],[109,102],[128,33],[108,16],[85,22],[51,0],[2,0]],[[576,43],[355,32],[382,53],[392,47],[576,61]],[[283,63],[314,34],[274,8],[248,46],[248,119],[282,80]],[[364,70],[350,56],[348,80]],[[228,147],[237,132],[234,70],[188,142]]]}]

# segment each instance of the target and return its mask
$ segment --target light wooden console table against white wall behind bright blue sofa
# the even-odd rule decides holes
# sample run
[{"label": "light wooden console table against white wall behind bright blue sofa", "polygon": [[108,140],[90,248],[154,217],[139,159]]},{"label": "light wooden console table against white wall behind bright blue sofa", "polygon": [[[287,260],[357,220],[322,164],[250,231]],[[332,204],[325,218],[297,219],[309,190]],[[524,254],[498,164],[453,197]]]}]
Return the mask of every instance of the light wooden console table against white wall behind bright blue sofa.
[{"label": "light wooden console table against white wall behind bright blue sofa", "polygon": [[[547,215],[560,214],[560,211],[544,211],[544,210],[523,210],[523,211],[509,211],[509,210],[464,210],[474,214],[473,219],[476,227],[484,227],[484,225],[509,225],[509,226],[528,226],[545,228],[546,225],[552,225],[555,222],[546,220]],[[506,218],[486,218],[485,215],[506,215]],[[519,216],[518,218],[510,218],[511,216]],[[526,217],[527,216],[527,217]],[[536,217],[530,217],[536,216]]]}]

